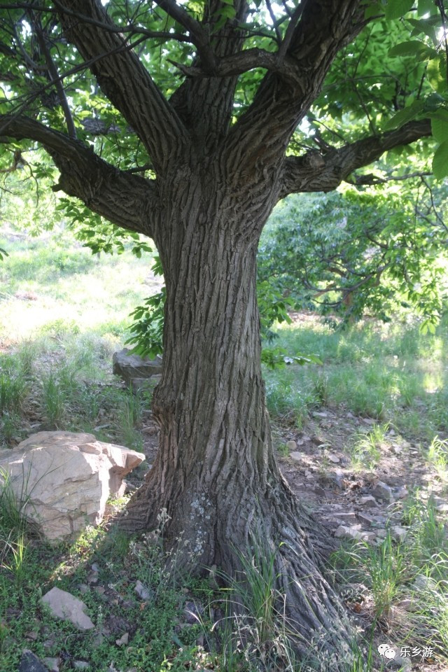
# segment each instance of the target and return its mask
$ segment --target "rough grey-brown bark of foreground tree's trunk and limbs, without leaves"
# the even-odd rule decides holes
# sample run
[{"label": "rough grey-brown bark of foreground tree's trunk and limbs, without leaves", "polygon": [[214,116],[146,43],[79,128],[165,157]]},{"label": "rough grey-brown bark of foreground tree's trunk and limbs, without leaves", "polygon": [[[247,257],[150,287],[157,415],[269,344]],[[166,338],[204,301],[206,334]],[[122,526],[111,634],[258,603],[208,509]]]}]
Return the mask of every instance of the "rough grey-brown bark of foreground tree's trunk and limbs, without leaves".
[{"label": "rough grey-brown bark of foreground tree's trunk and limbs, without leaves", "polygon": [[[167,510],[167,541],[196,570],[234,575],[253,538],[275,553],[276,588],[286,596],[297,648],[328,650],[344,667],[350,643],[344,609],[319,565],[323,533],[279,472],[265,408],[255,295],[256,251],[272,208],[288,193],[334,189],[393,146],[430,134],[426,121],[347,144],[324,155],[286,158],[297,123],[338,50],[362,29],[359,0],[303,0],[275,53],[242,51],[237,23],[211,41],[221,0],[198,22],[175,0],[160,7],[195,45],[188,77],[168,101],[127,47],[99,0],[59,0],[66,38],[104,94],[137,133],[153,181],[123,172],[76,139],[20,113],[0,116],[0,141],[33,139],[52,156],[57,188],[109,221],[155,240],[165,272],[163,373],[153,395],[160,448],[123,526],[151,530]],[[237,75],[266,69],[234,125]],[[181,538],[181,542],[179,542]],[[323,665],[322,665],[323,669]]]}]

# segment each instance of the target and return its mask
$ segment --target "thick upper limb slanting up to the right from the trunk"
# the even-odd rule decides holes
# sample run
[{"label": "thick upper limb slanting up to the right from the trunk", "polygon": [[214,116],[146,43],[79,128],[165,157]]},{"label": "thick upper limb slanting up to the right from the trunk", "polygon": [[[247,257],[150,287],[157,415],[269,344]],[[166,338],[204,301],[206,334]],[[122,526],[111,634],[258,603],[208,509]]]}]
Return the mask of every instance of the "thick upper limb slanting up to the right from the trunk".
[{"label": "thick upper limb slanting up to the right from the trunk", "polygon": [[[239,168],[238,178],[252,174],[258,179],[258,168],[265,174],[271,167],[275,171],[337,52],[363,27],[364,10],[358,0],[304,0],[293,34],[286,30],[288,49],[284,55],[284,48],[279,52],[280,62],[284,57],[284,62],[288,58],[295,64],[294,76],[285,78],[281,71],[267,73],[223,150],[223,162]],[[297,18],[290,21],[295,23]]]}]

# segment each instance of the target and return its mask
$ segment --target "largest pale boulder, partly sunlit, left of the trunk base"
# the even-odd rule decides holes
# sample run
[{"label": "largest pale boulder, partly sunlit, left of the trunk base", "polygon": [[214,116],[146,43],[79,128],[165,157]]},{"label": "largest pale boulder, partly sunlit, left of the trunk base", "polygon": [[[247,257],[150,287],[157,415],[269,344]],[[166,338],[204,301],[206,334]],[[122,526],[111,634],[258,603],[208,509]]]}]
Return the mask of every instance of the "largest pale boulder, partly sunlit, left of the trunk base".
[{"label": "largest pale boulder, partly sunlit, left of the trunk base", "polygon": [[123,494],[123,477],[144,459],[93,434],[39,432],[0,452],[0,484],[7,473],[18,500],[28,498],[25,514],[48,540],[69,540],[99,524],[109,496]]}]

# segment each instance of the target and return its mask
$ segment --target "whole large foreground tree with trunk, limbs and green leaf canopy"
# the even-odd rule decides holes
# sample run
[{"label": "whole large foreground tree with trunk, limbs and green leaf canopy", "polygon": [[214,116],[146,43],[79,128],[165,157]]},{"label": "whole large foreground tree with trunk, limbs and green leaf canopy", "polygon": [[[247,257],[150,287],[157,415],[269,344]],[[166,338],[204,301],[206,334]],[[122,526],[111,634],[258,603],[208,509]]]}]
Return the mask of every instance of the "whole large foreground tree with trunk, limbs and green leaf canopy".
[{"label": "whole large foreground tree with trunk, limbs and green leaf canopy", "polygon": [[[162,261],[160,449],[125,526],[154,528],[165,509],[167,540],[181,538],[183,563],[230,574],[253,539],[276,549],[297,647],[328,647],[335,669],[349,631],[319,568],[324,540],[272,449],[256,253],[276,202],[349,176],[363,183],[358,169],[430,136],[428,113],[442,174],[446,32],[436,29],[446,14],[442,0],[419,0],[420,18],[400,19],[411,8],[407,0],[0,6],[3,171],[38,144],[59,171],[55,190],[151,237]],[[408,28],[414,47],[390,55]],[[38,179],[46,168],[32,170]]]}]

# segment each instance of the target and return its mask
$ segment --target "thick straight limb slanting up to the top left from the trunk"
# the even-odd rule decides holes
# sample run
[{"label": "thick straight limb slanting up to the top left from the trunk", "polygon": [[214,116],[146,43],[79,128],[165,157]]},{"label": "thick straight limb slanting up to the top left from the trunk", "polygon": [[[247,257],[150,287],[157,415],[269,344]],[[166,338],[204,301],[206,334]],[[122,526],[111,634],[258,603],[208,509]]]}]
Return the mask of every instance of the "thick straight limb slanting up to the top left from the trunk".
[{"label": "thick straight limb slanting up to the top left from the trunk", "polygon": [[[107,26],[113,22],[99,0],[55,0],[62,27],[86,59],[96,59],[90,69],[109,100],[139,135],[153,159],[155,170],[163,171],[167,162],[188,142],[188,134],[176,112],[155,85],[137,55],[123,49],[125,38]],[[79,12],[94,20],[84,22],[66,13]],[[105,24],[100,27],[97,24]],[[104,54],[104,57],[101,57]]]}]

